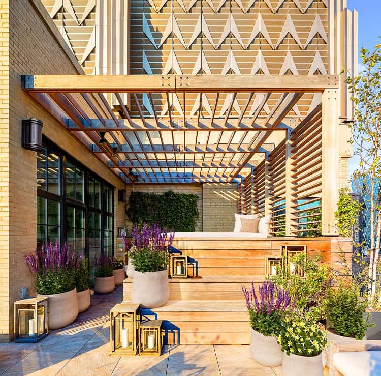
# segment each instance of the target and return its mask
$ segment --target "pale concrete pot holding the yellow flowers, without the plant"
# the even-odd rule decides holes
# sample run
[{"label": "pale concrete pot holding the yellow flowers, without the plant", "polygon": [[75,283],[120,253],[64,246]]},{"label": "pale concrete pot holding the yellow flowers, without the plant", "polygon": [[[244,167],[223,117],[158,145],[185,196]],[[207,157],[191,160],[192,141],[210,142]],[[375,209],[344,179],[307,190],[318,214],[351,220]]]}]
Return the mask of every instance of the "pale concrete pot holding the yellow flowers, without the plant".
[{"label": "pale concrete pot holding the yellow flowers, without the plant", "polygon": [[283,353],[282,372],[284,376],[323,376],[322,354],[304,357]]}]

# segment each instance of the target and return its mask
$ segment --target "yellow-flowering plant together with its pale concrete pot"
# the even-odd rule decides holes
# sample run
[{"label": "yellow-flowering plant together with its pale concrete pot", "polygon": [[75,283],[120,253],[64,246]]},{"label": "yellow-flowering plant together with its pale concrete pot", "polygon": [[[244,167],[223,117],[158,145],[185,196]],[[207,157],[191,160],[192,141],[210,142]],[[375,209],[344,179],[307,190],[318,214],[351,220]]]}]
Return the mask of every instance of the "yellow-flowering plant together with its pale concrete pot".
[{"label": "yellow-flowering plant together with its pale concrete pot", "polygon": [[278,343],[283,352],[284,376],[323,376],[322,352],[327,345],[327,333],[318,324],[287,315]]}]

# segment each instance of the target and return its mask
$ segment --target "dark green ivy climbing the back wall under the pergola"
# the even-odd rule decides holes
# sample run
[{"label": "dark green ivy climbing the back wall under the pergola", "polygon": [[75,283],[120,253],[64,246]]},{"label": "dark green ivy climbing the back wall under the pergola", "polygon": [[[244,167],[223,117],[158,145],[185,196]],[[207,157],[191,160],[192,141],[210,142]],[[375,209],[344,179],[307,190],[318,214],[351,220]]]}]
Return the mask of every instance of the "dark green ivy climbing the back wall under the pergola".
[{"label": "dark green ivy climbing the back wall under the pergola", "polygon": [[126,215],[134,225],[158,223],[171,231],[194,232],[199,219],[198,199],[195,194],[173,191],[163,194],[132,192]]}]

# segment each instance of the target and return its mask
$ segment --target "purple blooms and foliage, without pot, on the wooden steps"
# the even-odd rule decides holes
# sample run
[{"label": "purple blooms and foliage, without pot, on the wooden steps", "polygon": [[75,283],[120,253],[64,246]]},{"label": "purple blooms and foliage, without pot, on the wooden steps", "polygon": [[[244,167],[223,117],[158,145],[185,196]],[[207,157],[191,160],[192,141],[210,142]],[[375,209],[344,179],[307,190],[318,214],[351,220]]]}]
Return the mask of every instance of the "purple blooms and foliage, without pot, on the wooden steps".
[{"label": "purple blooms and foliage, without pot, on the wooden steps", "polygon": [[168,266],[168,248],[174,233],[168,233],[155,223],[154,226],[143,223],[141,229],[135,227],[132,232],[132,246],[129,258],[138,272],[160,272]]}]

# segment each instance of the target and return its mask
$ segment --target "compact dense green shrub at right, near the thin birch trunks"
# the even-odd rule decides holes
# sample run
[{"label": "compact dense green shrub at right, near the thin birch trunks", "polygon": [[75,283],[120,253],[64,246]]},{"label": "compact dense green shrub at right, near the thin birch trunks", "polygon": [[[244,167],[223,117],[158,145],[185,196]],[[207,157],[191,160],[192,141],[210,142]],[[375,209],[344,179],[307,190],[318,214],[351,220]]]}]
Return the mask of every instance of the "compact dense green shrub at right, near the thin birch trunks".
[{"label": "compact dense green shrub at right, near the thin birch trunks", "polygon": [[[327,294],[327,320],[329,328],[344,337],[363,339],[369,324],[365,314],[367,302],[360,301],[356,285],[332,287]],[[365,316],[365,317],[364,317]]]}]

